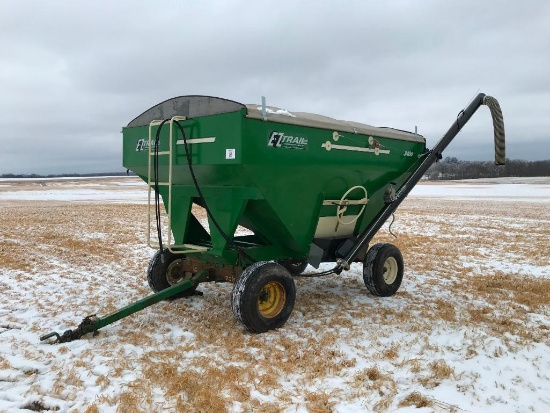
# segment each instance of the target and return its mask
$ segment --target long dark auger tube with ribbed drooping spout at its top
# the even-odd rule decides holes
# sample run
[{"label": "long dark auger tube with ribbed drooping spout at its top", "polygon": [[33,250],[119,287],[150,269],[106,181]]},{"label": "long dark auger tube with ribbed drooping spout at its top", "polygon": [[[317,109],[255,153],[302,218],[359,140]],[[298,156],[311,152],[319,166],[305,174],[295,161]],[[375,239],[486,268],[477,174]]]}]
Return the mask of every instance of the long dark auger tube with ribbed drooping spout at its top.
[{"label": "long dark auger tube with ribbed drooping spout at its top", "polygon": [[397,191],[395,199],[390,203],[387,203],[384,209],[376,216],[372,223],[367,226],[365,231],[359,236],[357,243],[348,252],[348,254],[338,260],[335,272],[340,273],[343,270],[349,269],[350,263],[355,260],[359,255],[359,252],[365,245],[368,245],[374,235],[384,225],[386,220],[395,212],[397,207],[401,205],[401,202],[405,200],[407,195],[411,192],[414,186],[420,181],[422,176],[426,173],[428,168],[435,162],[442,158],[442,152],[447,148],[449,143],[458,135],[462,127],[470,120],[472,115],[477,111],[481,105],[487,105],[491,111],[491,117],[493,118],[493,129],[495,136],[495,164],[504,165],[506,159],[505,152],[505,138],[504,138],[504,121],[502,117],[502,111],[498,101],[491,97],[486,96],[484,93],[479,93],[472,102],[462,110],[451,125],[447,133],[441,138],[441,140],[435,145],[435,147],[429,151],[418,169],[407,179],[403,186]]}]

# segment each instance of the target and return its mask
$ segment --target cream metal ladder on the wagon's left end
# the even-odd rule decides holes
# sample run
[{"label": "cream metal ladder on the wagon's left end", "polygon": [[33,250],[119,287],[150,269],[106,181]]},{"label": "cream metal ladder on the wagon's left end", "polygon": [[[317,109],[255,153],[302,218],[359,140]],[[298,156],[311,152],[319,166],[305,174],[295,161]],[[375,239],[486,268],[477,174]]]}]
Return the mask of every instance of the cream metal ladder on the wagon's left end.
[{"label": "cream metal ladder on the wagon's left end", "polygon": [[[174,139],[173,139],[173,132],[174,132],[174,121],[183,121],[187,118],[185,116],[174,116],[170,119],[170,122],[166,122],[165,124],[168,125],[170,129],[170,142],[169,142],[169,149],[167,151],[158,151],[155,153],[155,150],[153,148],[153,145],[155,145],[156,141],[153,139],[153,128],[155,126],[159,126],[164,120],[153,120],[151,123],[149,123],[149,156],[148,156],[148,170],[147,170],[147,187],[148,187],[148,193],[147,193],[147,212],[148,212],[148,219],[147,219],[147,244],[151,248],[157,248],[158,247],[158,240],[156,243],[153,242],[151,239],[151,223],[153,219],[153,214],[151,213],[151,209],[155,207],[154,203],[154,197],[153,200],[151,199],[151,192],[153,192],[153,186],[155,185],[155,177],[153,176],[152,171],[152,159],[154,156],[158,155],[160,158],[161,156],[168,156],[169,162],[168,162],[168,181],[159,181],[158,186],[167,186],[168,187],[168,207],[167,209],[167,219],[168,219],[168,240],[167,240],[167,248],[168,251],[170,251],[173,254],[188,254],[191,252],[204,252],[207,251],[208,248],[201,246],[201,245],[193,245],[193,244],[172,244],[172,177],[173,177],[173,166],[174,166]],[[160,146],[160,141],[159,141]],[[157,162],[159,162],[159,159],[157,159]],[[160,196],[160,195],[159,195]],[[166,205],[166,202],[165,202]],[[164,242],[163,242],[164,244]]]}]

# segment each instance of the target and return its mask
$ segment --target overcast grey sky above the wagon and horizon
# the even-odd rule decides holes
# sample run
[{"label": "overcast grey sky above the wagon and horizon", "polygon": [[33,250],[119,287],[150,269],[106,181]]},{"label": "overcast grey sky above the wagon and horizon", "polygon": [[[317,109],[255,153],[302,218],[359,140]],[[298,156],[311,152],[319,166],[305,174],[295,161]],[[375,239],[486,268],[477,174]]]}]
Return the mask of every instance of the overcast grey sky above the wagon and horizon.
[{"label": "overcast grey sky above the wagon and horizon", "polygon": [[[507,157],[550,159],[550,2],[22,1],[0,12],[0,174],[122,171],[120,130],[180,95],[414,131],[478,93]],[[480,108],[444,156],[492,160]]]}]

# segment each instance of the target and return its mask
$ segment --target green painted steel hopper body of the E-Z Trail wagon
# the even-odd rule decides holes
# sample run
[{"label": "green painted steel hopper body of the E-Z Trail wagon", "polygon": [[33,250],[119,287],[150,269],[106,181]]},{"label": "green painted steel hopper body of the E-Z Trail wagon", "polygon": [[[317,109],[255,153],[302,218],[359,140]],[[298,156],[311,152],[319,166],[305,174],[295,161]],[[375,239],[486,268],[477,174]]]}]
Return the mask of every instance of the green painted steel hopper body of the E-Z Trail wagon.
[{"label": "green painted steel hopper body of the E-Z Trail wagon", "polygon": [[[398,190],[425,153],[423,139],[398,140],[247,117],[245,108],[180,122],[197,181],[206,203],[224,232],[233,236],[237,224],[256,235],[257,246],[247,248],[255,259],[305,257],[320,216],[335,216],[339,200],[351,187],[364,186],[369,202],[353,230],[361,232],[380,212],[390,182]],[[153,128],[153,138],[157,127]],[[193,185],[182,135],[174,127],[172,227],[177,243],[204,239],[189,212],[189,202],[200,204]],[[147,181],[149,129],[123,129],[123,164]],[[180,141],[179,143],[177,143]],[[160,134],[159,151],[169,149],[169,125]],[[168,181],[168,156],[159,156],[159,181]],[[166,204],[168,188],[160,193]],[[354,191],[350,199],[362,198]],[[357,213],[350,206],[346,214]],[[192,222],[192,224],[190,224]],[[210,228],[214,228],[210,222]],[[237,237],[238,239],[238,237]],[[212,259],[234,264],[236,254],[212,230],[206,240]],[[204,254],[203,254],[204,255]],[[216,258],[217,257],[217,258]]]}]

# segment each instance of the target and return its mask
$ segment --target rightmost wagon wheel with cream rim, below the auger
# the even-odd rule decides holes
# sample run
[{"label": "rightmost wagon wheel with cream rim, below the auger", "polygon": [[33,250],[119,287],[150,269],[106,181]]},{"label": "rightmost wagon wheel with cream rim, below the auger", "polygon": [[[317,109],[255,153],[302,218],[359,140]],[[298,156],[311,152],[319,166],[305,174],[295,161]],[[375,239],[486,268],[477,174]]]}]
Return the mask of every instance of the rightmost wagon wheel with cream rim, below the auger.
[{"label": "rightmost wagon wheel with cream rim, below the auger", "polygon": [[403,280],[403,256],[392,244],[375,244],[363,264],[363,281],[374,295],[394,295]]}]

